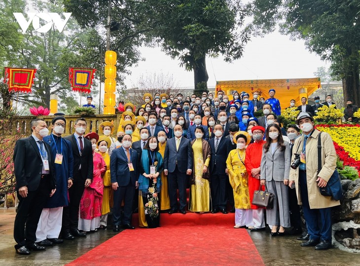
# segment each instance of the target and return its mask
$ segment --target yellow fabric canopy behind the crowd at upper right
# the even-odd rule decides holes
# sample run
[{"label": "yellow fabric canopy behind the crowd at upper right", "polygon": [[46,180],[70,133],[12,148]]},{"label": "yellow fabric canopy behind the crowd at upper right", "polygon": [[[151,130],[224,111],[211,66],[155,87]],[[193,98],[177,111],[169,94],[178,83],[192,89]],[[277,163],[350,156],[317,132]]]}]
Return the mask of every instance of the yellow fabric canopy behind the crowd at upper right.
[{"label": "yellow fabric canopy behind the crowd at upper right", "polygon": [[[257,80],[229,80],[216,81],[215,92],[224,91],[232,100],[232,91],[247,92],[252,100],[254,92],[260,92],[260,97],[269,99],[269,90],[275,89],[275,98],[280,100],[282,109],[289,106],[290,100],[301,104],[301,97],[310,96],[321,87],[320,78],[293,78],[293,79],[257,79]],[[300,97],[301,94],[301,97]],[[260,100],[260,99],[259,99]]]}]

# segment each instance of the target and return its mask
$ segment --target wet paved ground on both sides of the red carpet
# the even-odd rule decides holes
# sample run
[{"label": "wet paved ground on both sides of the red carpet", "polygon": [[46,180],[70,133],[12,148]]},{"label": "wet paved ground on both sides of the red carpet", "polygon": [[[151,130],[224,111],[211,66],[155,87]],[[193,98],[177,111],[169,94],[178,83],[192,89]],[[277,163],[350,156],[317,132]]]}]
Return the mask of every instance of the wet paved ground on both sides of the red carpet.
[{"label": "wet paved ground on both sides of the red carpet", "polygon": [[[66,241],[43,252],[19,256],[15,254],[15,242],[12,236],[14,218],[14,209],[0,209],[0,266],[65,265],[115,234],[111,230],[100,231],[89,234],[86,238]],[[346,253],[338,249],[316,251],[313,248],[303,248],[294,236],[272,238],[267,231],[252,232],[250,235],[266,265],[360,265],[360,254]],[[231,254],[226,254],[226,245],[223,248],[224,256],[231,256]],[[101,262],[94,262],[94,265],[101,265]],[[119,265],[121,265],[121,260],[119,260]]]}]

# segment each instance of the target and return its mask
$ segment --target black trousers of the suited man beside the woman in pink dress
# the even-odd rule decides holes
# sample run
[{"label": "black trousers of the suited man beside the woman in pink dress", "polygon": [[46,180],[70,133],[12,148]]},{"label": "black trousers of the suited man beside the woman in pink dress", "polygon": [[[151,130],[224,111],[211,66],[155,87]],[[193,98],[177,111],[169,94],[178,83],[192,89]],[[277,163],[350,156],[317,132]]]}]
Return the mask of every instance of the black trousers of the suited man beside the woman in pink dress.
[{"label": "black trousers of the suited man beside the woman in pink dress", "polygon": [[82,194],[85,189],[85,181],[74,180],[69,189],[69,205],[63,209],[63,225],[61,231],[75,231],[79,223],[79,207]]}]

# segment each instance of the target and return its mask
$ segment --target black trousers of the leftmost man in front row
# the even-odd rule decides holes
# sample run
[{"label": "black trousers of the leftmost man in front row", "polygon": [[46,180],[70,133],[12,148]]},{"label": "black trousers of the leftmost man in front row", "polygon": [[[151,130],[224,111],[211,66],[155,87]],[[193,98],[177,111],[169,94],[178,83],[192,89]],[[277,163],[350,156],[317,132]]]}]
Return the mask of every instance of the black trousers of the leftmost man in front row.
[{"label": "black trousers of the leftmost man in front row", "polygon": [[[45,177],[46,178],[46,177]],[[18,212],[14,223],[15,249],[30,245],[36,241],[36,228],[42,208],[49,199],[50,188],[48,180],[42,178],[36,191],[29,191],[28,196],[19,199]]]}]

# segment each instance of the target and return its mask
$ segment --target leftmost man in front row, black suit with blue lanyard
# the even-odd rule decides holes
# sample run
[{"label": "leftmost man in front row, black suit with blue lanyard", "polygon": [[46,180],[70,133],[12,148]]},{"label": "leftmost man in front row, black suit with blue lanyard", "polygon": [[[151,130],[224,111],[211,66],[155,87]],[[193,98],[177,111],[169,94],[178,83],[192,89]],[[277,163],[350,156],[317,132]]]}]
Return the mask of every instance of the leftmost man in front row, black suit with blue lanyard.
[{"label": "leftmost man in front row, black suit with blue lanyard", "polygon": [[45,250],[35,243],[36,228],[44,204],[56,191],[54,158],[49,145],[42,141],[49,133],[46,122],[34,119],[31,131],[31,136],[16,141],[13,156],[19,198],[14,239],[19,255],[30,255],[29,250]]}]

